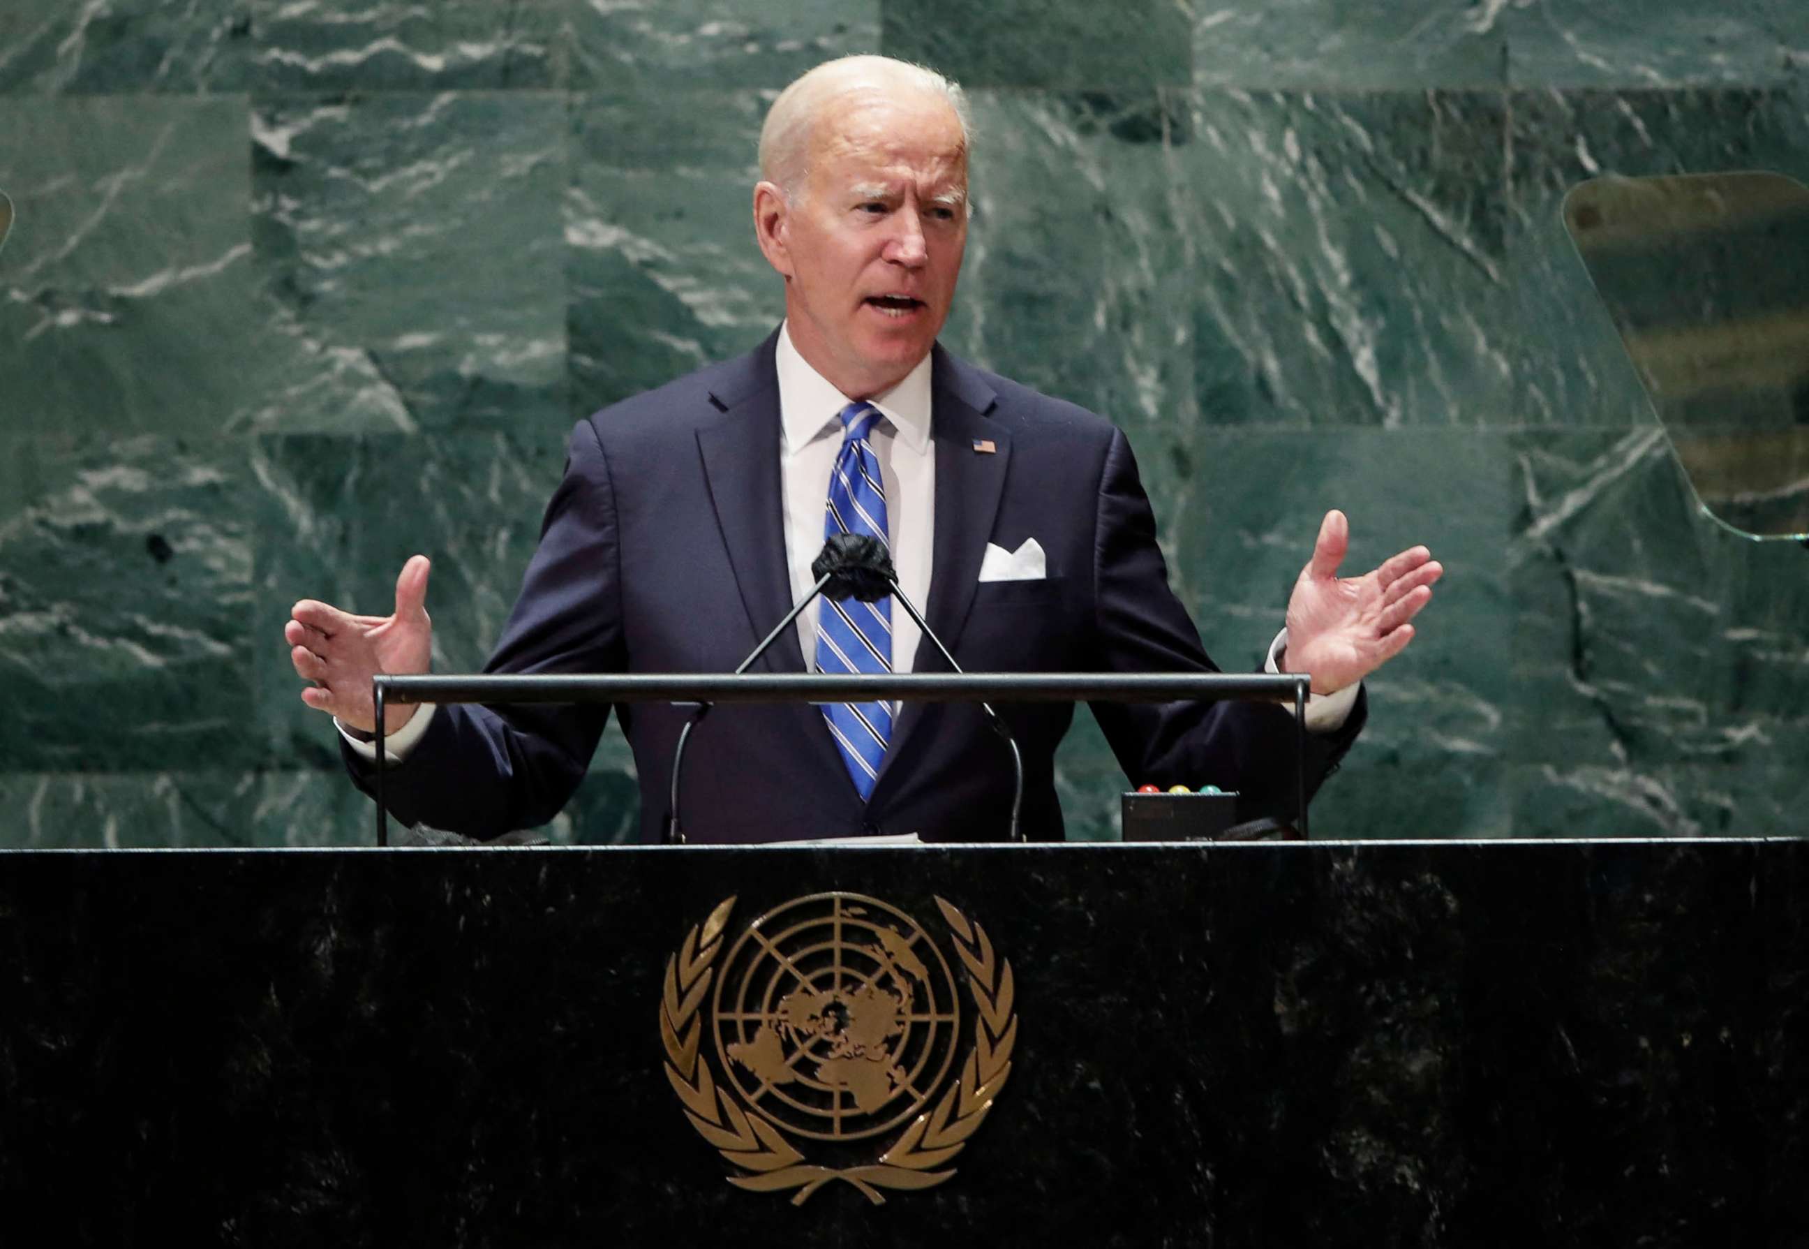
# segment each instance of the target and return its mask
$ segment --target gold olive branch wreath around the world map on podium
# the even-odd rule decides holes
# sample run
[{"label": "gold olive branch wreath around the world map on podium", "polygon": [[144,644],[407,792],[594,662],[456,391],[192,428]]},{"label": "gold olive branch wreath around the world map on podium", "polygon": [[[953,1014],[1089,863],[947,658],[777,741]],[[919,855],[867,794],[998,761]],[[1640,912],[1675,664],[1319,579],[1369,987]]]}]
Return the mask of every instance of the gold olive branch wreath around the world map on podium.
[{"label": "gold olive branch wreath around the world map on podium", "polygon": [[666,1046],[666,1079],[684,1102],[686,1119],[727,1162],[747,1171],[731,1175],[729,1184],[754,1193],[796,1189],[792,1206],[832,1180],[847,1180],[874,1206],[885,1206],[879,1189],[924,1189],[950,1180],[946,1164],[966,1146],[993,1099],[1011,1075],[1011,1050],[1017,1046],[1017,988],[1011,963],[993,950],[986,929],[961,911],[935,900],[948,921],[955,952],[968,968],[968,990],[979,1019],[973,1023],[973,1048],[957,1079],[935,1110],[914,1119],[892,1146],[868,1166],[812,1166],[758,1111],[749,1113],[729,1092],[716,1086],[709,1061],[698,1052],[704,1039],[702,1008],[715,976],[713,963],[722,954],[722,934],[729,925],[734,898],[725,898],[696,927],[684,945],[666,959],[666,985],[660,996],[660,1041]]}]

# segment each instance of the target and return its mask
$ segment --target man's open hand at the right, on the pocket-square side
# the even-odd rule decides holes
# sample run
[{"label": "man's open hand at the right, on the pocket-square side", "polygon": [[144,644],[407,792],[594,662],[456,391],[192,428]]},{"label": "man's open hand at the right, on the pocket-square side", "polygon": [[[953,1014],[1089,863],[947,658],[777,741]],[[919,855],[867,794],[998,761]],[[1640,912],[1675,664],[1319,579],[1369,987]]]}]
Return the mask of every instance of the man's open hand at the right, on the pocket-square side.
[{"label": "man's open hand at the right, on the pocket-square side", "polygon": [[1411,547],[1360,577],[1340,577],[1350,550],[1344,512],[1326,512],[1313,558],[1288,599],[1286,672],[1313,677],[1313,693],[1353,686],[1413,641],[1409,621],[1433,601],[1444,567],[1425,547]]}]

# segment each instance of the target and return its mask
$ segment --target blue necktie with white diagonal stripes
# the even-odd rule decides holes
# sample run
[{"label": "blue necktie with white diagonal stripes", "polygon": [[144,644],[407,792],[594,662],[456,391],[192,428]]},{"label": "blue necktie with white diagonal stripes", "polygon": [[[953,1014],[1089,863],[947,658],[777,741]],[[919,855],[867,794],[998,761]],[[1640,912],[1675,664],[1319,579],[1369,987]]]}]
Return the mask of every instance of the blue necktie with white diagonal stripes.
[{"label": "blue necktie with white diagonal stripes", "polygon": [[[879,422],[872,404],[841,409],[841,453],[829,474],[829,509],[823,536],[865,534],[890,548],[886,532],[886,491],[879,478],[879,458],[867,434]],[[877,603],[848,599],[821,601],[816,626],[818,672],[892,672],[892,597]],[[872,796],[879,762],[892,739],[892,706],[886,702],[830,702],[823,719],[854,777],[861,800]]]}]

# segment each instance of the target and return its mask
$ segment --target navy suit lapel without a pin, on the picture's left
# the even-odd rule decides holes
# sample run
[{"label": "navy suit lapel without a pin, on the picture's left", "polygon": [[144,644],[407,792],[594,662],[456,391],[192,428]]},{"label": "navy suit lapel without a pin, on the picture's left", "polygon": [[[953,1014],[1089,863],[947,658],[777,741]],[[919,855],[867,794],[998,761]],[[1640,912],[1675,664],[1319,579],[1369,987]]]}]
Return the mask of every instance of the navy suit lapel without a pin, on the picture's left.
[{"label": "navy suit lapel without a pin, on the picture's left", "polygon": [[[785,489],[780,480],[780,387],[772,367],[776,340],[778,335],[767,338],[745,357],[747,369],[731,371],[711,387],[709,398],[722,411],[722,420],[696,434],[709,501],[716,509],[734,585],[756,639],[765,637],[791,610],[781,516]],[[803,672],[798,634],[787,630],[756,668]]]}]

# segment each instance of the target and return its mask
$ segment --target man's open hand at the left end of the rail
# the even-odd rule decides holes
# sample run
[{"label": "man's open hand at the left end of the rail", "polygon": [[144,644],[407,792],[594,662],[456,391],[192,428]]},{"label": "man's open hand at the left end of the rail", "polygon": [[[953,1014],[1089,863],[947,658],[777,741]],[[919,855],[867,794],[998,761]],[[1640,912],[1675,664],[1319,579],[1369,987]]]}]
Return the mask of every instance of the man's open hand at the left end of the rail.
[{"label": "man's open hand at the left end of the rail", "polygon": [[[432,661],[434,630],[427,619],[427,556],[414,556],[396,577],[393,615],[351,615],[315,599],[302,599],[282,626],[289,663],[302,681],[302,702],[333,715],[349,729],[376,731],[371,677],[420,675]],[[414,715],[412,704],[384,708],[384,733],[394,733]]]}]

